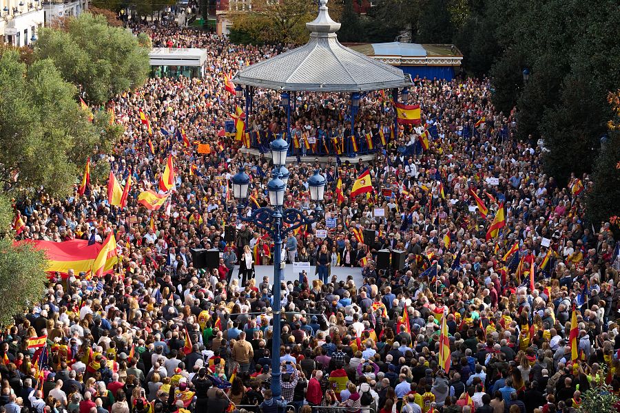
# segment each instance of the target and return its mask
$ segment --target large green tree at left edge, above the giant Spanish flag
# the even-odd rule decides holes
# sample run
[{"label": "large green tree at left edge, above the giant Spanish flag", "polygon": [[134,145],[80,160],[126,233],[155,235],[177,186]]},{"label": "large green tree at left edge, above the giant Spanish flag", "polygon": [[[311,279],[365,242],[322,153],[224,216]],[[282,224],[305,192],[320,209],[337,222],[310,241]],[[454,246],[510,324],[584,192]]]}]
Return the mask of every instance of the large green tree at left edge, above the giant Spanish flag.
[{"label": "large green tree at left edge, above the giant Spanish flag", "polygon": [[[12,187],[67,194],[87,154],[104,153],[121,135],[103,112],[87,120],[76,87],[63,81],[50,59],[26,67],[17,52],[3,53],[0,90],[0,178]],[[11,171],[19,171],[15,182]]]}]

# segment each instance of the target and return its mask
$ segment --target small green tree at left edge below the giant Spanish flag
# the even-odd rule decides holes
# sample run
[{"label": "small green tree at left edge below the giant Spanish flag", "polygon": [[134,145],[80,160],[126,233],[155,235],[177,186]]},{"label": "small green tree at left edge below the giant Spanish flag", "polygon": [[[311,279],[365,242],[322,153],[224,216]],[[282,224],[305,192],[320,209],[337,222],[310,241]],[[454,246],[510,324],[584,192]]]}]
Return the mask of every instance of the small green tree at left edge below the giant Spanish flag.
[{"label": "small green tree at left edge below the giant Spanish flag", "polygon": [[41,299],[47,281],[45,268],[43,251],[27,243],[13,245],[10,236],[0,239],[0,326],[12,324],[15,315]]}]

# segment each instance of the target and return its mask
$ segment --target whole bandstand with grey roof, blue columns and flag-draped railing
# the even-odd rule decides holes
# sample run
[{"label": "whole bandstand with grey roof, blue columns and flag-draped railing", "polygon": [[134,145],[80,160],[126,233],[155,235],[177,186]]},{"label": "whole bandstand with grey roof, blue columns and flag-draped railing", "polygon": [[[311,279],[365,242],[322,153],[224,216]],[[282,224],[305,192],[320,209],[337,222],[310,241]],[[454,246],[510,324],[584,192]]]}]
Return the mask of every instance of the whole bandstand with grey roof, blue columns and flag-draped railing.
[{"label": "whole bandstand with grey roof, blue columns and flag-draped railing", "polygon": [[[286,132],[277,137],[282,136],[289,143],[289,156],[298,156],[304,161],[319,158],[320,162],[335,156],[352,162],[357,161],[358,156],[362,159],[373,158],[375,152],[382,150],[382,145],[389,141],[391,134],[386,130],[371,136],[359,136],[355,130],[355,116],[360,109],[360,101],[369,92],[384,89],[394,100],[398,100],[401,92],[406,101],[412,85],[411,76],[397,67],[341,45],[335,33],[340,29],[340,23],[329,17],[327,0],[320,0],[319,3],[318,17],[306,23],[310,32],[308,43],[240,70],[233,78],[236,96],[245,100],[245,118],[251,120],[256,110],[253,97],[257,88],[280,93],[280,105],[287,115],[287,125]],[[299,128],[291,129],[291,111],[296,109],[298,96],[304,93],[347,96],[346,113],[340,120],[344,131],[321,131],[309,138]],[[397,129],[395,124],[392,126],[391,130]],[[276,135],[271,136],[267,132],[248,132],[249,147],[242,150],[250,153],[267,152],[263,149],[268,148],[269,141],[276,138]],[[308,141],[313,141],[313,145],[309,145]]]}]

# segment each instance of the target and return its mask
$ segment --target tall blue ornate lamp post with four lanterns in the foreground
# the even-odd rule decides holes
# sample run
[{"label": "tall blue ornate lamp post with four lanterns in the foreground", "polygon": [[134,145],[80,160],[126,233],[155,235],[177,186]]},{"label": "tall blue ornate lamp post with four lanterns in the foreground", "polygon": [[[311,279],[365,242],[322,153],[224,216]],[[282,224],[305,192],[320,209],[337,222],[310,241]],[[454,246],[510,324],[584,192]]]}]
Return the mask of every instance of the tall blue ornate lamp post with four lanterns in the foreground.
[{"label": "tall blue ornate lamp post with four lanterns in the foreground", "polygon": [[[282,280],[282,239],[287,233],[298,229],[300,226],[309,225],[316,221],[322,209],[320,202],[323,200],[326,180],[319,171],[308,180],[310,199],[316,203],[315,218],[308,218],[298,209],[288,208],[282,210],[284,195],[287,189],[289,171],[286,169],[287,151],[289,144],[282,138],[271,142],[271,158],[273,160],[272,178],[267,183],[269,203],[271,208],[263,207],[252,211],[249,217],[244,217],[242,211],[246,205],[250,179],[243,169],[231,178],[233,195],[238,200],[238,216],[243,222],[253,222],[258,228],[264,229],[273,238],[273,337],[271,338],[271,392],[275,399],[280,399],[282,386],[280,377],[280,284]],[[285,227],[283,224],[287,224]]]}]

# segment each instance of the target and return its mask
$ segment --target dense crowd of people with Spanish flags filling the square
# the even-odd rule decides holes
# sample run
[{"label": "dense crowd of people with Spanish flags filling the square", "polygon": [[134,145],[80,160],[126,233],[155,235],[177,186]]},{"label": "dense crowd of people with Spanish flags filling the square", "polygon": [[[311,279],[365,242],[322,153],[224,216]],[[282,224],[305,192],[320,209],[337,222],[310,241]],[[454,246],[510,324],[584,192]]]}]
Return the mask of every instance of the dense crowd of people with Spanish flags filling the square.
[{"label": "dense crowd of people with Spanish flags filling the square", "polygon": [[[274,286],[256,277],[256,266],[273,264],[273,240],[238,219],[269,204],[270,160],[226,132],[239,101],[225,90],[225,75],[290,45],[134,30],[154,45],[207,49],[207,74],[149,78],[110,103],[123,138],[113,153],[91,158],[110,163],[123,185],[132,176],[127,207],[111,207],[105,182],[96,180],[83,196],[76,186],[69,198],[41,193],[17,204],[26,224],[19,238],[63,242],[90,239],[94,230],[101,242],[112,231],[121,258],[101,278],[52,277],[41,301],[3,331],[0,412],[568,413],[590,389],[608,385],[619,394],[610,224],[586,221],[588,176],[561,185],[568,177],[546,175],[543,145],[515,138],[517,113],[495,110],[488,79],[415,79],[409,102],[420,104],[422,125],[395,128],[385,145],[378,134],[393,125],[393,109],[382,94],[368,94],[355,125],[381,150],[366,162],[342,162],[331,146],[333,136],[350,139],[347,96],[297,96],[293,133],[329,136],[331,156],[287,166],[285,207],[313,215],[307,178],[320,169],[328,184],[324,215],[283,246],[288,262],[309,262],[316,274]],[[259,90],[247,119],[266,142],[286,127],[279,101]],[[424,149],[419,136],[429,129]],[[208,151],[198,153],[198,144]],[[138,193],[158,189],[168,155],[176,188],[165,207],[147,211]],[[241,208],[229,185],[239,167],[253,194]],[[366,169],[373,193],[349,197]],[[500,205],[506,226],[487,239]],[[327,226],[331,218],[335,227]],[[236,227],[232,237],[225,226]],[[373,239],[364,242],[364,230]],[[195,268],[190,248],[218,248],[218,268]],[[404,266],[378,268],[382,249],[406,251]],[[533,257],[531,278],[524,257]],[[274,288],[285,311],[276,332]],[[444,317],[447,371],[438,360]],[[276,334],[282,346],[273,366]],[[44,336],[45,346],[29,348],[29,339]],[[281,398],[270,390],[272,369],[282,372]]]}]

